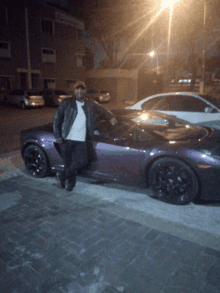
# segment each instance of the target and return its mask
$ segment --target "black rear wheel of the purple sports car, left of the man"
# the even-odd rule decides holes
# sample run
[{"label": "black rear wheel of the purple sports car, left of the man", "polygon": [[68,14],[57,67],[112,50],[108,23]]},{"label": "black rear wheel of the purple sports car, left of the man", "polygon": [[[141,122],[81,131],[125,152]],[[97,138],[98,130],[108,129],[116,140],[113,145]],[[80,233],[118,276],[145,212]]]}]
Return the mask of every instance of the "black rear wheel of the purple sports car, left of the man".
[{"label": "black rear wheel of the purple sports car, left of the man", "polygon": [[50,174],[48,158],[40,147],[29,145],[24,151],[23,158],[26,170],[32,177],[43,178]]}]

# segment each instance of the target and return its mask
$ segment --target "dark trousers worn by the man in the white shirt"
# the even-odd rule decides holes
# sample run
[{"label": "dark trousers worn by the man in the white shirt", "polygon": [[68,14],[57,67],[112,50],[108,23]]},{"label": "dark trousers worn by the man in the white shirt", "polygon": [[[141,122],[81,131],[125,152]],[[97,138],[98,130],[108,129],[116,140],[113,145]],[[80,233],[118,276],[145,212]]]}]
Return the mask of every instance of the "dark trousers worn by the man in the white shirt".
[{"label": "dark trousers worn by the man in the white shirt", "polygon": [[84,141],[64,140],[60,145],[61,157],[64,161],[65,179],[74,177],[76,172],[88,162],[88,148]]}]

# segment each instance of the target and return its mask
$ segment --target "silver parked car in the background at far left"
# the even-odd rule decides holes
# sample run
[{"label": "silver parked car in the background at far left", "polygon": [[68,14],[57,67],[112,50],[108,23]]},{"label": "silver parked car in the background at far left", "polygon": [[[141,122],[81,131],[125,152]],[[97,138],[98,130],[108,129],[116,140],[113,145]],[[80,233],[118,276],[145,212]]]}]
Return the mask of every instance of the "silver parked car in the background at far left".
[{"label": "silver parked car in the background at far left", "polygon": [[44,99],[38,91],[16,89],[5,97],[5,104],[16,105],[22,109],[27,107],[43,107]]}]

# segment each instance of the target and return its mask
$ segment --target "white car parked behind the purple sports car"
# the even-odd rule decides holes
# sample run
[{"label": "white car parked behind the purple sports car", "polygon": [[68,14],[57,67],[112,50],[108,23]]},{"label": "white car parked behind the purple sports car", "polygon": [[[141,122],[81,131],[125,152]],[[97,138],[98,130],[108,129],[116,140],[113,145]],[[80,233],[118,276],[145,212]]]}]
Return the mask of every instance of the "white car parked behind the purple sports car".
[{"label": "white car parked behind the purple sports car", "polygon": [[194,124],[220,129],[220,98],[211,95],[193,92],[162,93],[142,99],[129,109],[156,110]]}]

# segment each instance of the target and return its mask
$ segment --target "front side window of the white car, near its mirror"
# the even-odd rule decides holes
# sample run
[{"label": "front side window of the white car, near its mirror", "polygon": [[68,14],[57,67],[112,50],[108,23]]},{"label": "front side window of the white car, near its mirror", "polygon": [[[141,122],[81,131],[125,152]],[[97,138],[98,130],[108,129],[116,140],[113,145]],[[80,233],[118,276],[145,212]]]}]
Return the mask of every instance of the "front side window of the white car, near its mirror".
[{"label": "front side window of the white car, near its mirror", "polygon": [[168,96],[167,103],[170,111],[205,112],[208,105],[193,96]]}]

